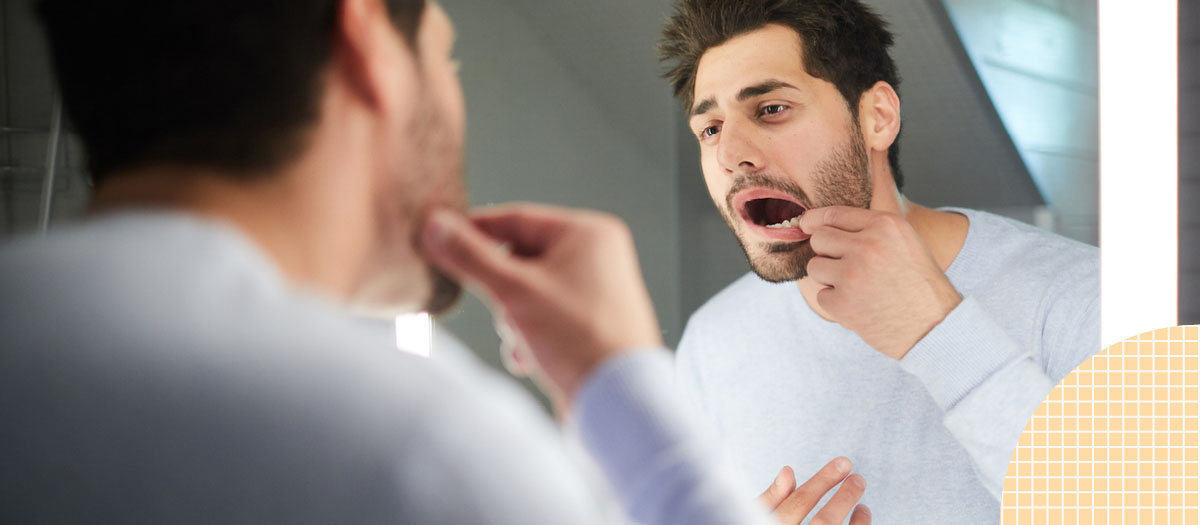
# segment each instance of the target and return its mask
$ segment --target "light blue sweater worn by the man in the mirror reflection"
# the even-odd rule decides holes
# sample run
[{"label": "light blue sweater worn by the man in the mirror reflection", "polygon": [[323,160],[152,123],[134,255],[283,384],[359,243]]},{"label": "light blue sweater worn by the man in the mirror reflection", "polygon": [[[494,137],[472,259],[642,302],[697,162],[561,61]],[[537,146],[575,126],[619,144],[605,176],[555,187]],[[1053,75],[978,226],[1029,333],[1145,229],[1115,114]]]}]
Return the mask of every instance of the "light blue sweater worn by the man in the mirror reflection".
[{"label": "light blue sweater worn by the man in the mirror reflection", "polygon": [[750,485],[846,455],[880,524],[997,523],[1013,448],[1054,386],[1099,350],[1094,247],[994,215],[947,271],[962,303],[901,361],[818,316],[794,283],[748,274],[684,332],[680,384]]}]

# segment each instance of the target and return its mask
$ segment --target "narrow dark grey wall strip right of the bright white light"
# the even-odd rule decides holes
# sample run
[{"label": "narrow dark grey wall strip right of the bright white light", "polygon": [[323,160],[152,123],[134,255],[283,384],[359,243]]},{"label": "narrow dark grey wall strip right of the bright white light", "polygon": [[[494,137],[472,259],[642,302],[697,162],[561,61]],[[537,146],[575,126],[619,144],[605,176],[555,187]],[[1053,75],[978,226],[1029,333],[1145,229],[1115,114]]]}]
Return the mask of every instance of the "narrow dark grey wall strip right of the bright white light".
[{"label": "narrow dark grey wall strip right of the bright white light", "polygon": [[1200,325],[1200,0],[1180,0],[1180,324]]}]

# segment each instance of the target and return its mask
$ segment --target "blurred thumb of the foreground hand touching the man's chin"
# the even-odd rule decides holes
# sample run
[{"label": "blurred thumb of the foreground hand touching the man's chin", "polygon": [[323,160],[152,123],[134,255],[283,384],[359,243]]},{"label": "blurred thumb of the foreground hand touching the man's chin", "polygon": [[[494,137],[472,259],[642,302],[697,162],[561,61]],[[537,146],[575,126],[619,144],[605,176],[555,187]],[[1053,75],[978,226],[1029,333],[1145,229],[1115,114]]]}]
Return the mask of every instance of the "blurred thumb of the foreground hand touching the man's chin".
[{"label": "blurred thumb of the foreground hand touching the man's chin", "polygon": [[478,284],[494,298],[520,284],[517,265],[504,246],[448,210],[430,213],[421,245],[431,262],[451,277]]}]

